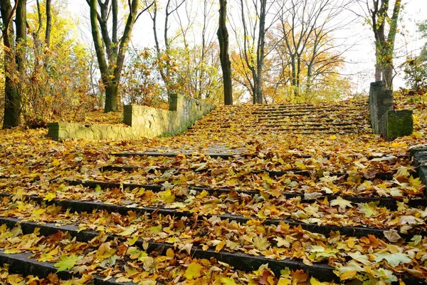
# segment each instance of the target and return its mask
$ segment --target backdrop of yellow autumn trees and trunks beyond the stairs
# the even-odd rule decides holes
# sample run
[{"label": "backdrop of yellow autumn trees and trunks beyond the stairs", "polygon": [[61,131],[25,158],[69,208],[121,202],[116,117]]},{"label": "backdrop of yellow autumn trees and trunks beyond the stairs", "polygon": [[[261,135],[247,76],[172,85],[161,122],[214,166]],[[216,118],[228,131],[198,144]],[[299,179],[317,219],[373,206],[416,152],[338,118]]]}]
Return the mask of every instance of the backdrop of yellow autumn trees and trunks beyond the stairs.
[{"label": "backdrop of yellow autumn trees and trunks beyond the stairs", "polygon": [[51,0],[1,1],[3,125],[162,106],[168,93],[217,104],[347,97],[354,44],[339,37],[359,25],[351,9],[368,9],[375,79],[391,88],[401,1],[391,2],[85,0],[79,17]]}]

